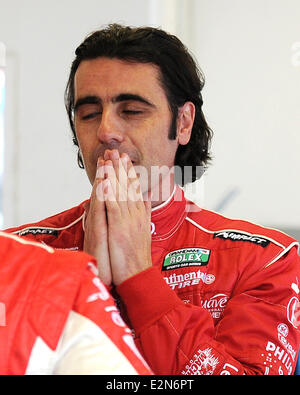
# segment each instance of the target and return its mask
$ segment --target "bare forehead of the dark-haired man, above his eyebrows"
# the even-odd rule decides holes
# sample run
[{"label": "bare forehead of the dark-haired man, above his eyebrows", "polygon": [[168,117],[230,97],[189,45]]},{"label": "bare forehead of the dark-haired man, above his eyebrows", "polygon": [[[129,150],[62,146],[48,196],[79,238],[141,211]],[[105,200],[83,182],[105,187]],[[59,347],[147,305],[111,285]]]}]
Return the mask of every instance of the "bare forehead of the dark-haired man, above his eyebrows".
[{"label": "bare forehead of the dark-haired man, above his eyebrows", "polygon": [[120,93],[140,94],[149,99],[167,100],[158,66],[99,57],[84,60],[75,74],[75,97],[113,97]]}]

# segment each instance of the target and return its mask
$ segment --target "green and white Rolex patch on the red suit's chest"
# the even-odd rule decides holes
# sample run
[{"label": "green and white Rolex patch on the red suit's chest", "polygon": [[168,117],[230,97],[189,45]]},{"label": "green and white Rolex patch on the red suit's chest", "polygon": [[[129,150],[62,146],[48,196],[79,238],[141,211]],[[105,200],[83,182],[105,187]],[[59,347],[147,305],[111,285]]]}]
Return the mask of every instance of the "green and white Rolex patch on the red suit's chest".
[{"label": "green and white Rolex patch on the red suit's chest", "polygon": [[182,248],[165,256],[162,270],[181,269],[191,266],[206,266],[210,250],[204,248]]}]

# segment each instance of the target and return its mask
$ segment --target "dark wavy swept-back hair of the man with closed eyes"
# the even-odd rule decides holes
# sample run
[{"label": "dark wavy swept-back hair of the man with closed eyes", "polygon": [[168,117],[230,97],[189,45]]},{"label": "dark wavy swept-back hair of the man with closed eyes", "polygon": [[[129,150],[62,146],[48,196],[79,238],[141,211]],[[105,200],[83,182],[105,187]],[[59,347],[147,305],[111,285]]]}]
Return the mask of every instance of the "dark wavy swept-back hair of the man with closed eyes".
[{"label": "dark wavy swept-back hair of the man with closed eyes", "polygon": [[[203,168],[210,162],[212,131],[203,111],[201,91],[204,86],[203,73],[197,67],[192,55],[174,35],[153,27],[129,27],[111,24],[91,33],[75,51],[69,80],[65,90],[65,106],[73,133],[73,142],[79,147],[74,125],[74,78],[83,60],[98,57],[116,58],[134,63],[152,63],[161,72],[161,84],[165,90],[172,112],[169,138],[176,138],[179,107],[187,101],[194,103],[195,121],[191,139],[187,145],[180,145],[176,152],[175,167],[192,169],[188,182],[193,182],[203,174]],[[83,160],[78,150],[78,164],[83,168]],[[200,169],[200,171],[199,171]],[[187,181],[181,180],[184,185]]]}]

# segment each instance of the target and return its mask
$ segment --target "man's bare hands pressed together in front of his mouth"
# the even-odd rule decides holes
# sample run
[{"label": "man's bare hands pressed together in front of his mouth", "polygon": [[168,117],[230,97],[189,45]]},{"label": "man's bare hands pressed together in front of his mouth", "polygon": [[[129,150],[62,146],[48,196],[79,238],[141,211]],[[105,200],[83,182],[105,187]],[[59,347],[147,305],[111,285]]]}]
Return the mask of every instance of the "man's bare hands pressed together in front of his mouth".
[{"label": "man's bare hands pressed together in front of his mouth", "polygon": [[143,199],[129,156],[105,151],[86,205],[84,251],[97,259],[106,285],[152,266],[150,219],[151,201]]}]

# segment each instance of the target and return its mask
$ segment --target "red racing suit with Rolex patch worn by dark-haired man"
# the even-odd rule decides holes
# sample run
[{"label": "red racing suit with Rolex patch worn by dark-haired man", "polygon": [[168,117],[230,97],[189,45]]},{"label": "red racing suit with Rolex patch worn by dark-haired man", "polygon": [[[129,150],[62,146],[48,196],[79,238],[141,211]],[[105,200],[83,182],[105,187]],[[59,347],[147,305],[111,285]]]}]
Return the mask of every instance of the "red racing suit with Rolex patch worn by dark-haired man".
[{"label": "red racing suit with Rolex patch worn by dark-haired man", "polygon": [[[81,250],[83,204],[9,231]],[[179,187],[151,221],[153,267],[117,292],[154,373],[293,374],[298,242],[200,209]]]}]

